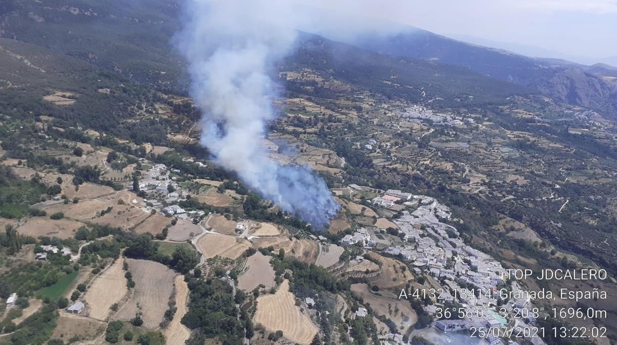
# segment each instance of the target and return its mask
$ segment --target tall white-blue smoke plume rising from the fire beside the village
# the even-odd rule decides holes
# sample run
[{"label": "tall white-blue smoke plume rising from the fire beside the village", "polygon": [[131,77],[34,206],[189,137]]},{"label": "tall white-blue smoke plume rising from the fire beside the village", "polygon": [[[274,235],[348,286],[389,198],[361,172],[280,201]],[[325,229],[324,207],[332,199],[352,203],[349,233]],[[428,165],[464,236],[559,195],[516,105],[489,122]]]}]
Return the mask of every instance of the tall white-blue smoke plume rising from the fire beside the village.
[{"label": "tall white-blue smoke plume rising from the fire beside the village", "polygon": [[202,110],[201,144],[262,197],[325,228],[339,210],[325,182],[310,168],[278,164],[262,149],[274,114],[267,70],[296,39],[290,2],[189,0],[186,15],[176,40]]}]

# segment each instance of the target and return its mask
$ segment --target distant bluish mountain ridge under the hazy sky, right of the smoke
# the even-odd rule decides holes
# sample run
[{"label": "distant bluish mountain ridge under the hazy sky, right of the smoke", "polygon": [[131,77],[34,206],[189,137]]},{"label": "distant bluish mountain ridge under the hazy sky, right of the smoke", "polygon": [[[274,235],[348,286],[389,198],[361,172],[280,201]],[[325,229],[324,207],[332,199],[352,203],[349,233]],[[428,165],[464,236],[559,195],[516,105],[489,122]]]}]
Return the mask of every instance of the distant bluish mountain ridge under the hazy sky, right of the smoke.
[{"label": "distant bluish mountain ridge under the hazy sky, right of the smoke", "polygon": [[615,67],[586,66],[561,59],[539,59],[503,49],[488,48],[410,28],[384,39],[366,37],[358,46],[391,56],[453,64],[500,80],[534,88],[560,102],[598,110],[617,117]]}]

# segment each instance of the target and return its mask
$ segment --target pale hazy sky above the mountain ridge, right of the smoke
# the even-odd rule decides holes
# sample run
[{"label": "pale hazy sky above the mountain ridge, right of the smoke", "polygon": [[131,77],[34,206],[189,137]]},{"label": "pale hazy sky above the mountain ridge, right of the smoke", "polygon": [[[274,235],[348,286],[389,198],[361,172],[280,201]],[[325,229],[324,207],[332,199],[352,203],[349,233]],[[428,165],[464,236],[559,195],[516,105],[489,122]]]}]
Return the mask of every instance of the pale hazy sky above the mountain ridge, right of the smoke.
[{"label": "pale hazy sky above the mountain ridge, right of the smoke", "polygon": [[455,38],[523,44],[569,57],[617,56],[617,0],[357,0],[348,5],[345,10],[357,15]]}]

